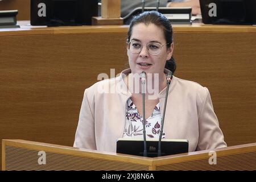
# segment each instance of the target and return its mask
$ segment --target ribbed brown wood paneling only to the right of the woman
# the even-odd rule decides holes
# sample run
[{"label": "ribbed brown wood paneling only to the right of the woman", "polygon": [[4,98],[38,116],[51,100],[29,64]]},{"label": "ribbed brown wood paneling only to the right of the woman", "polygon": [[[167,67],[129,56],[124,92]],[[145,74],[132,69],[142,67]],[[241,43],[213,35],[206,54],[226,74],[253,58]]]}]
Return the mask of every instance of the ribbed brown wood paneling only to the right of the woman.
[{"label": "ribbed brown wood paneling only to the right of the woman", "polygon": [[179,32],[178,77],[207,86],[229,146],[256,140],[256,34]]}]

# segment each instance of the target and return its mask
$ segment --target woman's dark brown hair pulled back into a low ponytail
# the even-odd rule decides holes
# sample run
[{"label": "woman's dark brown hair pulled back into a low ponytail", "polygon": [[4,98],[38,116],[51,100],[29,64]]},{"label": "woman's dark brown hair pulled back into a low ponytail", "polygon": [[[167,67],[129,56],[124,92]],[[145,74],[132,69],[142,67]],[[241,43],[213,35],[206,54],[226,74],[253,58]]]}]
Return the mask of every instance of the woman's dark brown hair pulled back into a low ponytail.
[{"label": "woman's dark brown hair pulled back into a low ponytail", "polygon": [[[172,24],[171,22],[166,18],[166,16],[162,15],[158,11],[144,11],[143,13],[133,16],[133,19],[131,20],[129,30],[127,32],[127,42],[130,42],[131,34],[133,34],[133,26],[135,24],[144,23],[146,25],[152,23],[155,24],[158,27],[163,28],[164,32],[164,38],[166,39],[167,48],[171,47],[171,44],[173,42],[172,38]],[[172,73],[175,72],[176,69],[176,63],[173,57],[166,61],[166,67],[169,69]]]}]

